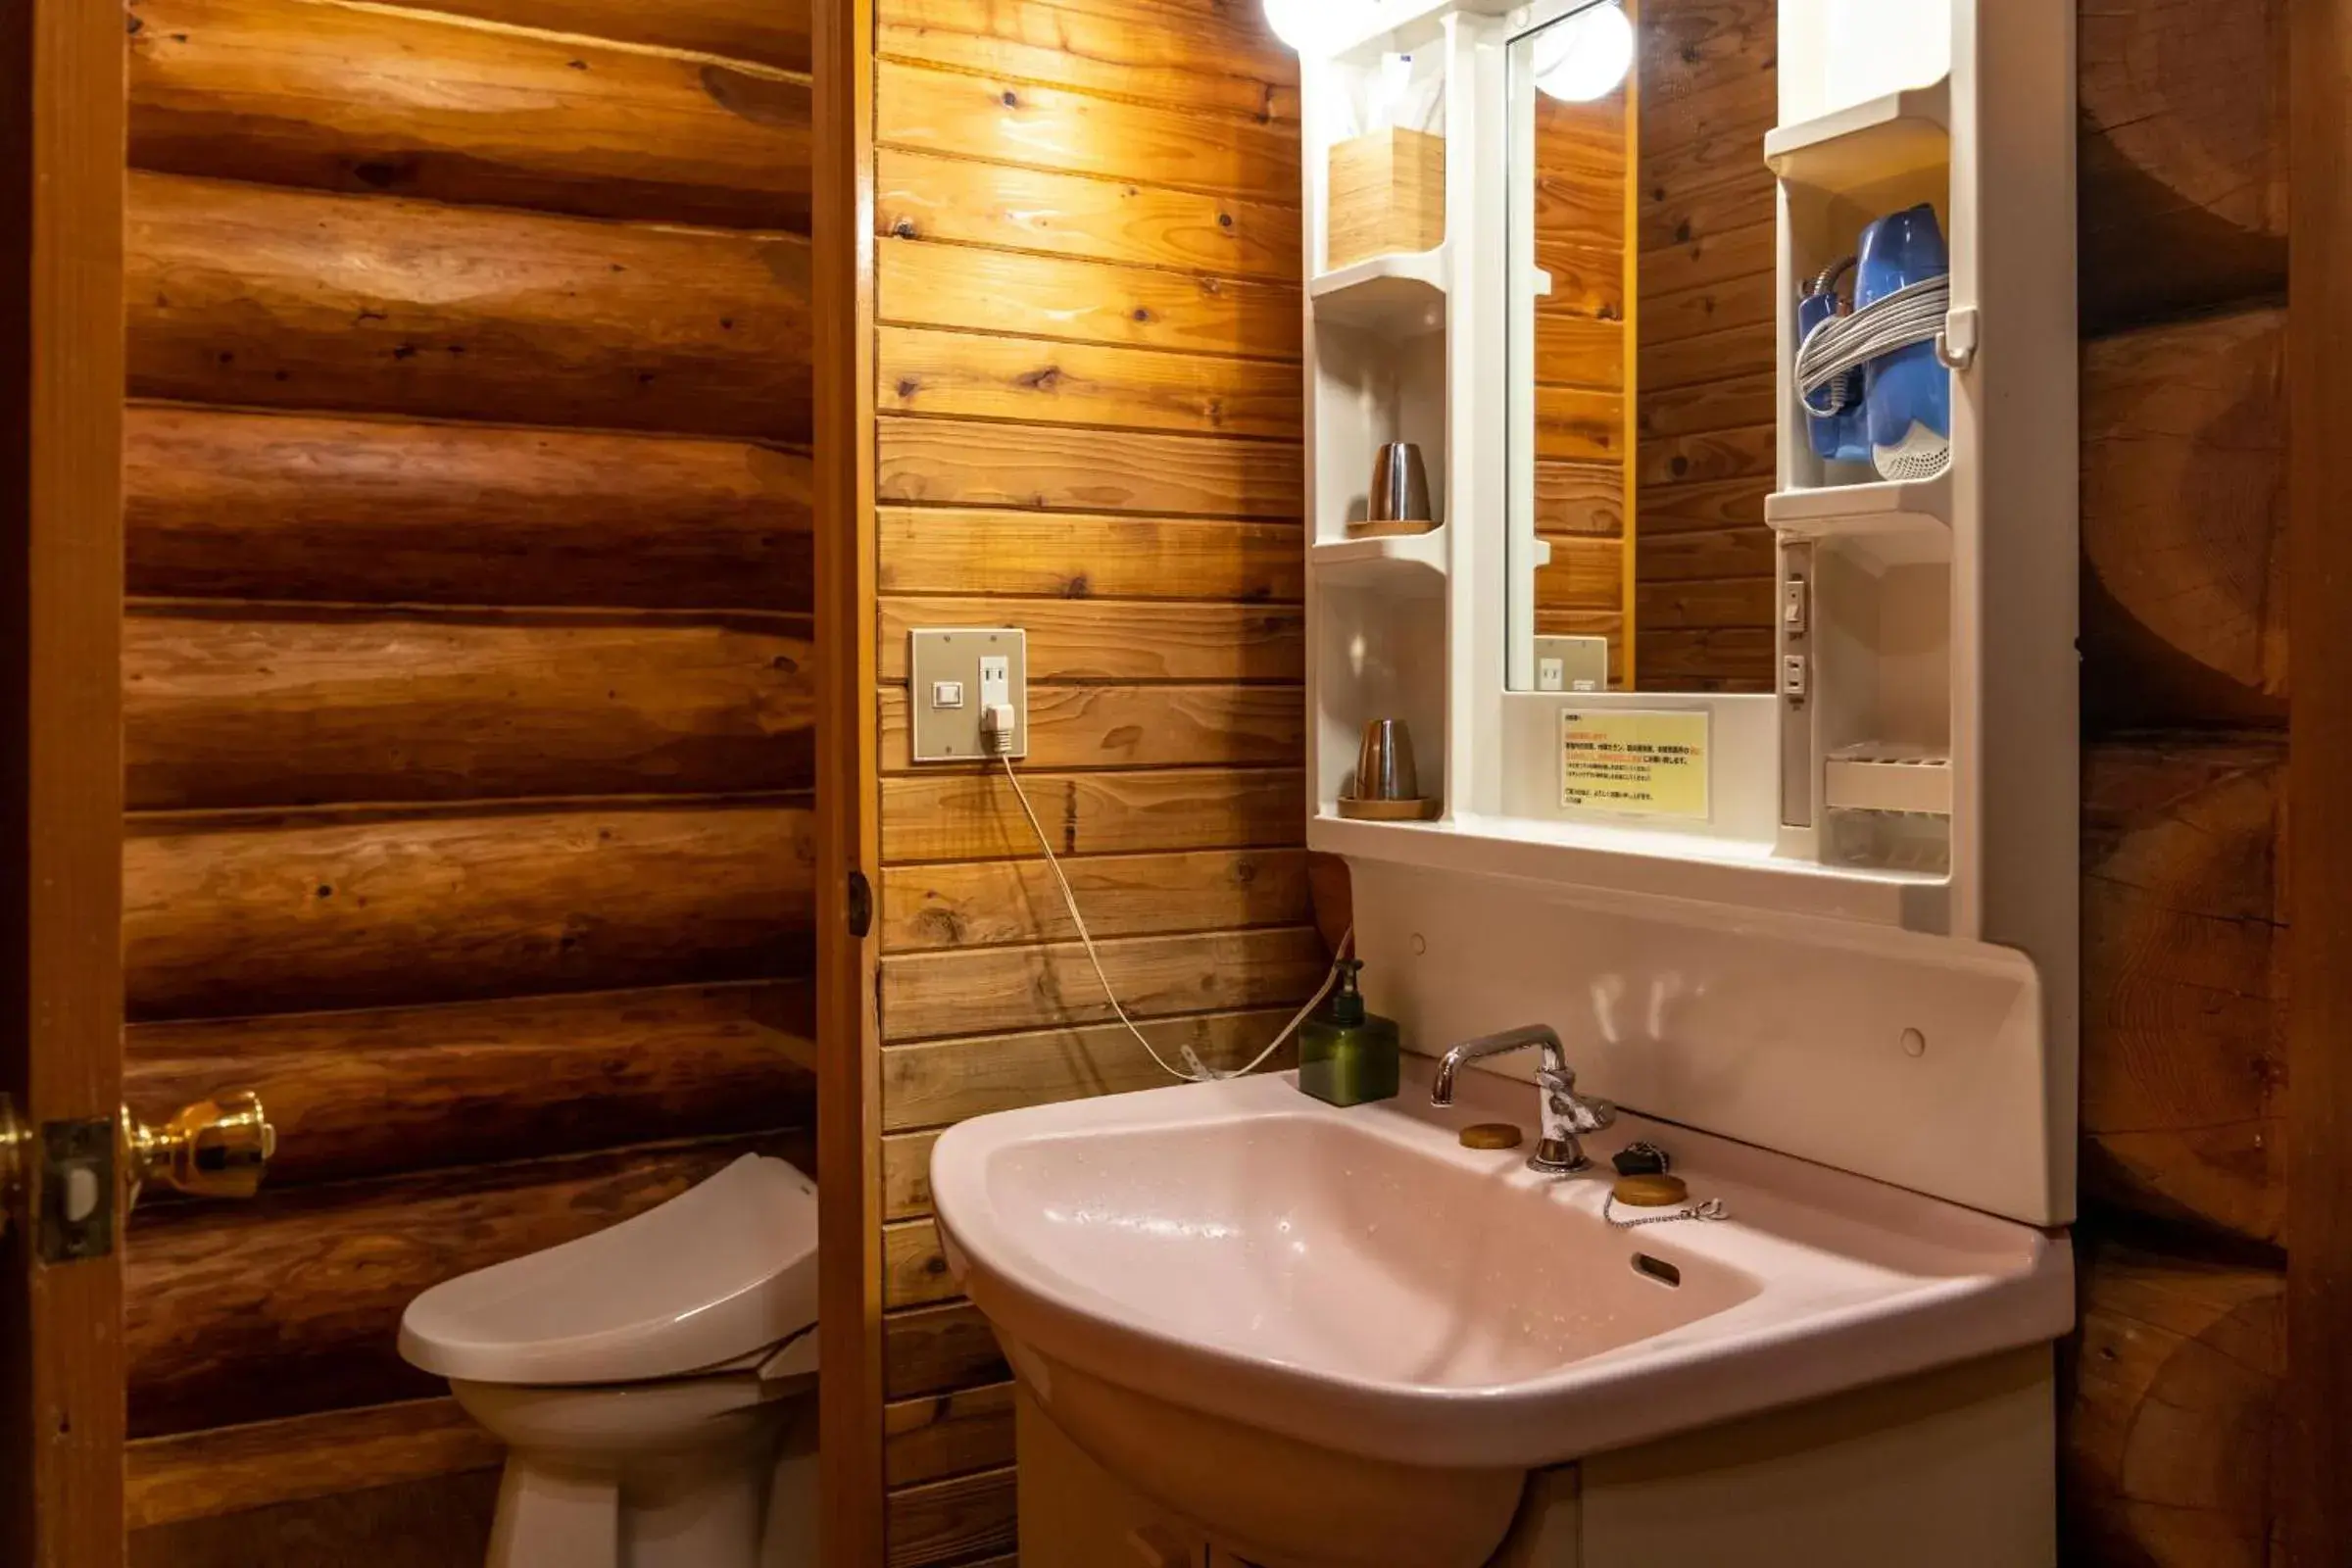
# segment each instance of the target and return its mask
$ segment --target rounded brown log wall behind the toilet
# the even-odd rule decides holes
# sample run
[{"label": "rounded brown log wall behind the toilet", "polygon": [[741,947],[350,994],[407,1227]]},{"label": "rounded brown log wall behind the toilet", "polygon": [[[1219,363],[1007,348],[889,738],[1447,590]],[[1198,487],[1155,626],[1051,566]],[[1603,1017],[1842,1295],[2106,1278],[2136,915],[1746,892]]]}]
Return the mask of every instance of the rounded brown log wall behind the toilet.
[{"label": "rounded brown log wall behind the toilet", "polygon": [[807,5],[129,0],[134,1561],[459,1568],[426,1286],[809,1164]]}]

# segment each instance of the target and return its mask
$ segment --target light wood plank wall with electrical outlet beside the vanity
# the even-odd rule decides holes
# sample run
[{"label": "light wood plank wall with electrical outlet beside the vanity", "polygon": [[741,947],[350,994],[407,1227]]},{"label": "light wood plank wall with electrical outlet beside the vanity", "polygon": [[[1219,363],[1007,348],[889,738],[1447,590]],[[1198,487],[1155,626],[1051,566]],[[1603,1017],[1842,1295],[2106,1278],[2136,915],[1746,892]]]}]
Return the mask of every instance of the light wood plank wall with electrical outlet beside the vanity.
[{"label": "light wood plank wall with electrical outlet beside the vanity", "polygon": [[1002,776],[908,762],[908,630],[1028,630],[1025,785],[1164,1051],[1249,1060],[1327,947],[1296,59],[1256,0],[880,0],[875,47],[884,1472],[917,1568],[1014,1549],[1007,1368],[938,1251],[931,1140],[1167,1079],[1105,1025]]}]

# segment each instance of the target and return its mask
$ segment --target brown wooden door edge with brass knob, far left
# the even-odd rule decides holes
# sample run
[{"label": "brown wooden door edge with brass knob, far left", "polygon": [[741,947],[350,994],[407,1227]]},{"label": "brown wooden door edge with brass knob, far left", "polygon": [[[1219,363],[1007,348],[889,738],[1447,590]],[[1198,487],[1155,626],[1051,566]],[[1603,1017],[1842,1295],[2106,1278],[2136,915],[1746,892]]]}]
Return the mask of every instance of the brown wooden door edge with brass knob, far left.
[{"label": "brown wooden door edge with brass knob, far left", "polygon": [[0,1091],[26,1128],[0,1251],[0,1561],[115,1568],[120,1248],[68,1260],[26,1225],[66,1190],[47,1145],[103,1161],[122,1081],[115,7],[0,0]]}]

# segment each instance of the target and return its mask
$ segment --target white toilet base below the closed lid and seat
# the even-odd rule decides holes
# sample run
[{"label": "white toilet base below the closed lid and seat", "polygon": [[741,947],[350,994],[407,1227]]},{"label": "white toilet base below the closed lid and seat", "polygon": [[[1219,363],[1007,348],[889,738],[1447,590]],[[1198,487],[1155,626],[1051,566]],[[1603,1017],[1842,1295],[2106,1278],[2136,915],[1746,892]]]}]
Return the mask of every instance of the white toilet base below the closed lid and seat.
[{"label": "white toilet base below the closed lid and seat", "polygon": [[816,1568],[814,1380],[452,1392],[508,1443],[487,1568]]}]

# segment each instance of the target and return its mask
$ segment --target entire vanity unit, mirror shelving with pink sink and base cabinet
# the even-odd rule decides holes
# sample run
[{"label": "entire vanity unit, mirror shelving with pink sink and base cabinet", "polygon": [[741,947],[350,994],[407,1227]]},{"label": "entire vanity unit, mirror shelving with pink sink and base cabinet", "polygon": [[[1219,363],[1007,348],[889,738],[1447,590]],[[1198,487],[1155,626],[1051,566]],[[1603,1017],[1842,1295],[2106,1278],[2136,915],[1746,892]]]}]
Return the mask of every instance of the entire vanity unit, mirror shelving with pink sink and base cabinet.
[{"label": "entire vanity unit, mirror shelving with pink sink and base cabinet", "polygon": [[[1642,299],[1639,200],[1616,280],[1534,228],[1564,186],[1531,115],[1609,85],[1592,49],[1623,21],[1308,9],[1308,844],[1350,863],[1364,992],[1409,1048],[1550,1025],[1576,1088],[1726,1211],[1623,1229],[1602,1175],[1451,1150],[1425,1067],[1352,1112],[1204,1084],[955,1128],[934,1192],[1023,1385],[1023,1561],[2049,1568],[2077,1133],[2072,7],[1778,5],[1780,125],[1708,150],[1769,169],[1752,223],[1776,247],[1776,473],[1740,510],[1771,534],[1733,541],[1769,599],[1736,691],[1623,682],[1625,649],[1609,689],[1557,689],[1538,588],[1576,543],[1545,510],[1550,440],[1583,442],[1595,484],[1623,463],[1621,548],[1644,548],[1642,313],[1562,322]],[[1642,92],[1635,68],[1628,146]],[[1416,190],[1442,165],[1442,235],[1362,256],[1334,143],[1364,136]],[[1898,346],[1806,395],[1799,299],[1835,315],[1839,287]],[[1559,374],[1611,322],[1616,357]],[[1367,527],[1390,442],[1425,458],[1432,529]],[[1381,719],[1416,743],[1430,820],[1367,820]],[[1524,1084],[1477,1100],[1534,1121]],[[1578,1338],[1592,1312],[1613,1328]],[[1080,1519],[1033,1476],[1117,1502]]]}]

